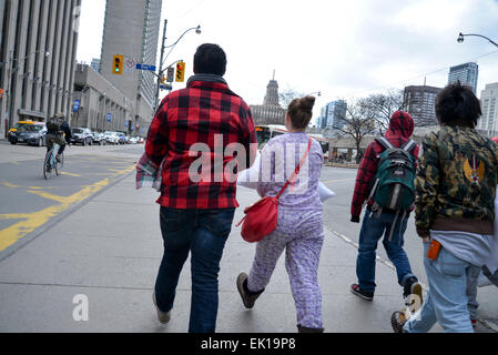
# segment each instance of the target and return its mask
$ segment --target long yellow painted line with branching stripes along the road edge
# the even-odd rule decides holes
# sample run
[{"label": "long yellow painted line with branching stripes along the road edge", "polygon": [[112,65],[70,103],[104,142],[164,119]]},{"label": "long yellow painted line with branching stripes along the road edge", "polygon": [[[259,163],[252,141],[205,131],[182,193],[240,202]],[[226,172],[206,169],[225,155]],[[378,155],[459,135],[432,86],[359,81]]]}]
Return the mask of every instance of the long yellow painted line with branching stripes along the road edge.
[{"label": "long yellow painted line with branching stripes along the road edge", "polygon": [[58,196],[41,191],[28,191],[30,193],[40,195],[42,197],[59,202],[59,204],[44,209],[42,211],[33,213],[7,213],[0,214],[0,220],[21,220],[20,222],[0,231],[0,252],[14,244],[21,237],[33,232],[35,229],[42,226],[50,219],[57,216],[61,212],[68,210],[72,205],[88,199],[95,192],[108,186],[111,182],[111,178],[130,173],[134,170],[134,165],[130,165],[128,169],[122,170],[110,178],[101,180],[94,184],[87,185],[82,190],[73,193],[70,196]]}]

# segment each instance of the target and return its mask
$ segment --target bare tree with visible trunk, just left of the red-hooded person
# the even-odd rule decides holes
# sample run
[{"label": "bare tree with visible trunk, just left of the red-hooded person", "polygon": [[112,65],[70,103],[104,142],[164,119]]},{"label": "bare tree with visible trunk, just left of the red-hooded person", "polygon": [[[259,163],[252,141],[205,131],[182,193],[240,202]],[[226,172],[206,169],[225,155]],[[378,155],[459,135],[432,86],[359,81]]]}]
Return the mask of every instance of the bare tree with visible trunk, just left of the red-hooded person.
[{"label": "bare tree with visible trunk, just left of the red-hooded person", "polygon": [[356,163],[358,164],[362,159],[359,146],[365,135],[377,131],[376,120],[362,104],[362,99],[349,100],[344,116],[338,119],[343,124],[337,125],[335,131],[338,136],[348,136],[355,141]]}]

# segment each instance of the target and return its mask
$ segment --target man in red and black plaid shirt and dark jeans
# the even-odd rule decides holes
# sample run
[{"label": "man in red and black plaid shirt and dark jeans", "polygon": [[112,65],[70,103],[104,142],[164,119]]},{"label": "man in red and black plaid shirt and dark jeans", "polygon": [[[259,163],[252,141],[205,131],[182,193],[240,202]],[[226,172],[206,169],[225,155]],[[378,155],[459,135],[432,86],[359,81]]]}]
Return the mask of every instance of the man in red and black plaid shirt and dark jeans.
[{"label": "man in red and black plaid shirt and dark jeans", "polygon": [[[191,333],[215,332],[220,261],[238,206],[233,176],[251,166],[257,146],[251,110],[228,89],[225,69],[223,49],[210,43],[197,48],[194,75],[185,89],[162,100],[145,143],[150,161],[141,162],[156,169],[162,163],[157,203],[164,255],[153,294],[157,317],[170,321],[191,252]],[[231,146],[242,149],[234,156]]]}]

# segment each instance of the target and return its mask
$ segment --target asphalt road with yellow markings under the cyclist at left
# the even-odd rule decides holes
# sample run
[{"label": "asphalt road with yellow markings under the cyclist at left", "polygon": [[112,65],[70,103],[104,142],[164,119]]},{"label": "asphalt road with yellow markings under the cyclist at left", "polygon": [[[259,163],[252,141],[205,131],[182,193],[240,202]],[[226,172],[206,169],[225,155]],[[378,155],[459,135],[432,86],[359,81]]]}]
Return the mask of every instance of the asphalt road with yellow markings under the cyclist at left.
[{"label": "asphalt road with yellow markings under the cyclist at left", "polygon": [[50,180],[42,172],[45,151],[0,141],[0,258],[133,171],[143,144],[72,145],[61,175]]}]

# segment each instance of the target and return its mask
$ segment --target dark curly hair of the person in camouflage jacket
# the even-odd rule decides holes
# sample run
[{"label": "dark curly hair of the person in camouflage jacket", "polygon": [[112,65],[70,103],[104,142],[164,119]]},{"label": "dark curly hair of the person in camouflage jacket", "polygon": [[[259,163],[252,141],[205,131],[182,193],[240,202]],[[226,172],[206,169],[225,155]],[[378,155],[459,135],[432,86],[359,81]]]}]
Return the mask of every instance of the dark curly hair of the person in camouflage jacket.
[{"label": "dark curly hair of the person in camouflage jacket", "polygon": [[479,99],[460,81],[448,84],[436,97],[436,116],[440,124],[475,128],[481,114]]}]

